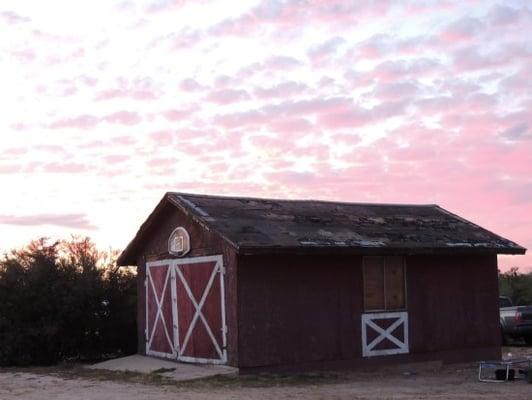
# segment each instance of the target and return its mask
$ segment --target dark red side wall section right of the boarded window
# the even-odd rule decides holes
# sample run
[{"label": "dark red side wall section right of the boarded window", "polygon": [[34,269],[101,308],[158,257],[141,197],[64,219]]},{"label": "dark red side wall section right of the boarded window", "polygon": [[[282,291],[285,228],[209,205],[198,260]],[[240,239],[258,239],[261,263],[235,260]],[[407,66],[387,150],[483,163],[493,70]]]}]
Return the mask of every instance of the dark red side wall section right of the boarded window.
[{"label": "dark red side wall section right of the boarded window", "polygon": [[407,265],[413,352],[500,347],[496,256],[410,257]]}]

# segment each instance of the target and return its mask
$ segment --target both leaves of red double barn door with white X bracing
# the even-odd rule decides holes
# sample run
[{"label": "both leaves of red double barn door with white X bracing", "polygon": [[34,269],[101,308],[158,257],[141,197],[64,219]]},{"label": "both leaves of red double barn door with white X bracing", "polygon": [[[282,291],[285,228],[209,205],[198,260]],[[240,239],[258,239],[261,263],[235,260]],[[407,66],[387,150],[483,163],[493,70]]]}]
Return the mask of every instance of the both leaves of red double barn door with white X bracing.
[{"label": "both leaves of red double barn door with white X bracing", "polygon": [[146,354],[227,361],[223,273],[222,256],[146,264]]}]

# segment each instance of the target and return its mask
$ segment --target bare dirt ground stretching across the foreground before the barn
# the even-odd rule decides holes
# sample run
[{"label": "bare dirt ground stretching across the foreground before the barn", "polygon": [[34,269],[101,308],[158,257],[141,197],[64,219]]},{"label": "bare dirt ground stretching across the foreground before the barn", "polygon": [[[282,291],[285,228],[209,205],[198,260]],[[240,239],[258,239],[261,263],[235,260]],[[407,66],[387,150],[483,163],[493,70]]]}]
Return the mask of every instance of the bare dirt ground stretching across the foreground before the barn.
[{"label": "bare dirt ground stretching across the foreground before the barn", "polygon": [[[532,347],[503,354],[532,356]],[[79,367],[0,369],[0,400],[166,399],[504,399],[532,400],[525,381],[481,383],[477,365],[412,365],[387,371],[219,377],[175,383],[160,376],[88,372]]]}]

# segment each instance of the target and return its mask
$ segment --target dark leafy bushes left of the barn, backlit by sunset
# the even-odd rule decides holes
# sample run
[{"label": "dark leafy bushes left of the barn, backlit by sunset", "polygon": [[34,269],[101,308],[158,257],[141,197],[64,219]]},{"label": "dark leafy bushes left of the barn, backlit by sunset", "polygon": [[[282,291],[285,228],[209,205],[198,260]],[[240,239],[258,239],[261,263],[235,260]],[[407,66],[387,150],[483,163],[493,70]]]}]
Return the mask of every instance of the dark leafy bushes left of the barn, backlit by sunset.
[{"label": "dark leafy bushes left of the barn, backlit by sunset", "polygon": [[0,259],[0,365],[131,354],[136,276],[88,239],[31,242]]}]

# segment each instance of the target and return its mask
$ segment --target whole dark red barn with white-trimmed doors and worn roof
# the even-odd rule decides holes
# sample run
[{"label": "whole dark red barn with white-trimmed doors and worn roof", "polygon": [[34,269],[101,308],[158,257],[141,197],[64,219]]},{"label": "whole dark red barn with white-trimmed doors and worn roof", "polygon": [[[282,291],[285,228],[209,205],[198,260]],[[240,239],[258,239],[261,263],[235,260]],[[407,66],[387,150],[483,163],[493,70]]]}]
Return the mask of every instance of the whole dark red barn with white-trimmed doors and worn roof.
[{"label": "whole dark red barn with white-trimmed doors and worn roof", "polygon": [[139,353],[241,371],[500,357],[497,254],[436,205],[167,193],[138,267]]}]

